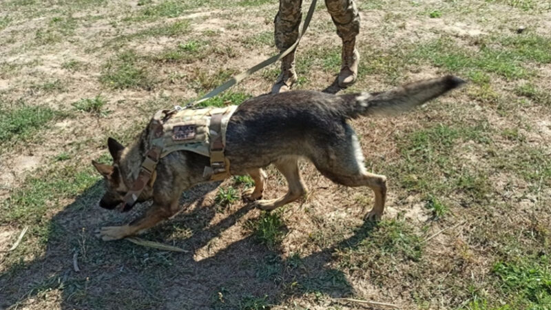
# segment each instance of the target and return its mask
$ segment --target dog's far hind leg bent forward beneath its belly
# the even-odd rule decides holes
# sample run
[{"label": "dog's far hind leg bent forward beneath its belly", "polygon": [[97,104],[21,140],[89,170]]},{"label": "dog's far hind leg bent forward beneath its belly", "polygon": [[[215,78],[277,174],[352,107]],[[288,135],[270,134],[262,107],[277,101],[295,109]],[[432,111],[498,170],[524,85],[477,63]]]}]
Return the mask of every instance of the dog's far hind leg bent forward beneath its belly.
[{"label": "dog's far hind leg bent forward beneath its belly", "polygon": [[273,210],[281,207],[282,205],[287,205],[287,203],[297,200],[306,193],[306,186],[304,185],[304,182],[302,182],[300,171],[298,169],[298,157],[284,157],[273,163],[273,165],[278,168],[287,180],[289,190],[287,191],[287,194],[278,199],[258,200],[256,204],[258,205],[258,208],[262,210]]}]

